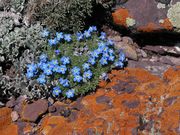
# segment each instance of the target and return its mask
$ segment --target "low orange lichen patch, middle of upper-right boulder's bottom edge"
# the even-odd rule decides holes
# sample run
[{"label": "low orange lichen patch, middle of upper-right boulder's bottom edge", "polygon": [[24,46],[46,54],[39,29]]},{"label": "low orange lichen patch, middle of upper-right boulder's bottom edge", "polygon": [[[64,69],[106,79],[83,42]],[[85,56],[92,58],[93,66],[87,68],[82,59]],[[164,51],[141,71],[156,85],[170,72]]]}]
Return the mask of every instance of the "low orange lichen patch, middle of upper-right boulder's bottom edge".
[{"label": "low orange lichen patch, middle of upper-right boulder's bottom edge", "polygon": [[142,32],[153,32],[159,30],[160,26],[156,25],[155,23],[148,23],[146,26],[140,26],[137,28],[138,31]]}]

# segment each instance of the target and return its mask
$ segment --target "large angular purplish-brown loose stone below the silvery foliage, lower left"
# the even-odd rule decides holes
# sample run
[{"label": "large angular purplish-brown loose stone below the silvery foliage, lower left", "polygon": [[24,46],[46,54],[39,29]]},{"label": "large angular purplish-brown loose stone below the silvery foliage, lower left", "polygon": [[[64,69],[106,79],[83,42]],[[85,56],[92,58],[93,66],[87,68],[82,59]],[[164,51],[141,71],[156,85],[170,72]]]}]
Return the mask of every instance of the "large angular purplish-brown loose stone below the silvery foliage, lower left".
[{"label": "large angular purplish-brown loose stone below the silvery foliage, lower left", "polygon": [[22,119],[36,122],[48,109],[48,101],[39,99],[32,104],[27,104],[22,112]]}]

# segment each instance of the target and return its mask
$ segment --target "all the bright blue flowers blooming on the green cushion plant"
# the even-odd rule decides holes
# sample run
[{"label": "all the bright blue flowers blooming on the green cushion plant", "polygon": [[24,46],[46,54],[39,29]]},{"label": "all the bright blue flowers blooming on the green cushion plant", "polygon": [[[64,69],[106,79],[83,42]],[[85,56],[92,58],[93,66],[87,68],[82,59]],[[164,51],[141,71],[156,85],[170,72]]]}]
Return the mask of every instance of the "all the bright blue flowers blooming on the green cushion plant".
[{"label": "all the bright blue flowers blooming on the green cushion plant", "polygon": [[[60,42],[70,43],[73,42],[74,39],[76,39],[76,42],[86,41],[90,39],[96,31],[96,26],[91,26],[83,33],[78,32],[74,36],[57,32],[53,39],[48,40],[49,46],[52,48],[56,46],[54,49],[56,58],[49,60],[46,54],[40,55],[37,64],[32,63],[27,65],[26,77],[28,79],[35,77],[39,84],[44,85],[50,77],[58,74],[60,76],[58,85],[52,88],[52,94],[54,96],[65,94],[67,98],[73,98],[77,90],[74,89],[71,82],[73,81],[73,84],[78,85],[91,81],[94,76],[92,68],[97,64],[100,64],[102,68],[112,64],[114,64],[115,67],[122,68],[124,66],[125,55],[122,51],[120,51],[118,55],[115,53],[113,41],[107,40],[106,33],[104,32],[101,32],[98,37],[97,48],[88,53],[88,60],[82,65],[72,67],[71,57],[64,56],[63,51],[57,47]],[[49,37],[50,33],[45,29],[41,35],[42,37]]]}]

